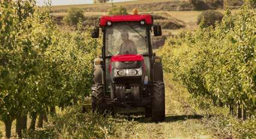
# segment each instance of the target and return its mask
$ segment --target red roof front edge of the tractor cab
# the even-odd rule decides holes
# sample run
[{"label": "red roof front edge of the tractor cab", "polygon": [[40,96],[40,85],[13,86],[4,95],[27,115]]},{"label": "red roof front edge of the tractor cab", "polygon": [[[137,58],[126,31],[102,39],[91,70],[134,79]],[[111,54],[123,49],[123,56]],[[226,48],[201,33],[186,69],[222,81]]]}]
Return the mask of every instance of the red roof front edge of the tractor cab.
[{"label": "red roof front edge of the tractor cab", "polygon": [[102,16],[100,18],[100,26],[106,26],[107,21],[123,22],[123,21],[141,21],[145,20],[146,24],[153,24],[152,17],[149,14],[145,15],[115,15],[115,16]]}]

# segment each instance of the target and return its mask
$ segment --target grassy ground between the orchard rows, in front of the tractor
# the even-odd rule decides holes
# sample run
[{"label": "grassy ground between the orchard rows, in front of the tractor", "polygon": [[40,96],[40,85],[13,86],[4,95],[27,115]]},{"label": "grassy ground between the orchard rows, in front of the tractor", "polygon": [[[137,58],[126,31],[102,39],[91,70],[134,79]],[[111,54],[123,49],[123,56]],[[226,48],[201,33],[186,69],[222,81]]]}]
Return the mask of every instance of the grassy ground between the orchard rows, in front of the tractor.
[{"label": "grassy ground between the orchard rows, in front of the tractor", "polygon": [[[157,50],[156,50],[157,51]],[[254,138],[255,118],[240,121],[227,108],[201,107],[188,91],[164,74],[166,121],[155,123],[144,116],[81,113],[81,106],[57,109],[44,128],[24,134],[25,138]],[[15,123],[15,122],[14,122]],[[3,134],[3,123],[0,129]],[[14,133],[15,126],[12,132]],[[1,135],[1,134],[0,134]],[[1,137],[1,136],[0,136]],[[13,137],[16,137],[13,135]]]}]

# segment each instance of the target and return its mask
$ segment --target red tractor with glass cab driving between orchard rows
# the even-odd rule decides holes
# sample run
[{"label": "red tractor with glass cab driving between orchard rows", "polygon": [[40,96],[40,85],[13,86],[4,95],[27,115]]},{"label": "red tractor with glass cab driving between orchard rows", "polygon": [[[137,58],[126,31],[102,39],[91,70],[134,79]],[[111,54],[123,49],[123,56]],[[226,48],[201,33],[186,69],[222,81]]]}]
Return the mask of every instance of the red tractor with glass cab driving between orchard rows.
[{"label": "red tractor with glass cab driving between orchard rows", "polygon": [[115,15],[99,18],[102,56],[95,59],[92,110],[145,108],[145,116],[164,121],[164,83],[161,58],[153,53],[151,32],[161,36],[161,26],[151,15]]}]

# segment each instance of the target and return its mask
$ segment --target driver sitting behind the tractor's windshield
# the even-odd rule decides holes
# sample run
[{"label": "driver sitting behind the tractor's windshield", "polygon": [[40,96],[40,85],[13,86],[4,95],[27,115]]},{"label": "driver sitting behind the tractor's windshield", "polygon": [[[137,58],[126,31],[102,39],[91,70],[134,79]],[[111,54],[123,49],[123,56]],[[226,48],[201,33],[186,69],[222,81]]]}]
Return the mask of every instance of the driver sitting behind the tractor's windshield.
[{"label": "driver sitting behind the tractor's windshield", "polygon": [[135,43],[129,39],[128,31],[121,33],[121,40],[123,43],[119,49],[119,55],[136,55],[138,53]]}]

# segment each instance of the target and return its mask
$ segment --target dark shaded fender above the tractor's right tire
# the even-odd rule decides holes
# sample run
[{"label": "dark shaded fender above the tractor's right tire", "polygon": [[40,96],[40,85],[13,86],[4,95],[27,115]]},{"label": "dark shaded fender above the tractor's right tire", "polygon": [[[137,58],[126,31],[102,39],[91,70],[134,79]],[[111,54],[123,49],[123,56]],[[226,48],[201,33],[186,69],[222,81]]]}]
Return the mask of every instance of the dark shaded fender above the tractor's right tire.
[{"label": "dark shaded fender above the tractor's right tire", "polygon": [[160,56],[153,57],[153,81],[163,81],[163,65]]}]

